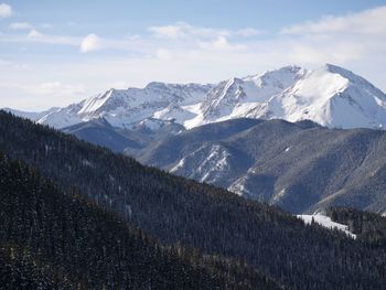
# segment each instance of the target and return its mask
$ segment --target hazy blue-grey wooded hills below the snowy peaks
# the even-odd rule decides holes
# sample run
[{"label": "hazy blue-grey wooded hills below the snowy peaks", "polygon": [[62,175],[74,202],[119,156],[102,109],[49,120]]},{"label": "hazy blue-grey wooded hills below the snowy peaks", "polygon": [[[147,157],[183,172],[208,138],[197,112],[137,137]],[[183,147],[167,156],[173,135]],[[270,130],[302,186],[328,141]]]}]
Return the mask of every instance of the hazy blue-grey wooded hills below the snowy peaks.
[{"label": "hazy blue-grey wooded hills below the snowy peaks", "polygon": [[64,131],[296,214],[333,205],[386,214],[384,130],[240,118],[191,130],[173,122],[128,130],[99,119]]}]

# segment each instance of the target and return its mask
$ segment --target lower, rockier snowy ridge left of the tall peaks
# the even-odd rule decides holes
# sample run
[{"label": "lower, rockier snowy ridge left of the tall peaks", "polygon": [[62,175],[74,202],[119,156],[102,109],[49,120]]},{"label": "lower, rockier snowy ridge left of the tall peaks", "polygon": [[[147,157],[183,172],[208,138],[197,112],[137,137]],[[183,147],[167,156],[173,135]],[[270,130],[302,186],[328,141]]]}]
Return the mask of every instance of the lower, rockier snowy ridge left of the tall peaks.
[{"label": "lower, rockier snowy ridge left of the tall peaks", "polygon": [[[52,111],[40,118],[37,122],[65,128],[78,122],[104,118],[115,127],[131,128],[133,123],[153,117],[156,112],[159,119],[172,119],[174,116],[165,112],[162,115],[161,111],[168,108],[183,111],[180,106],[200,101],[210,88],[211,85],[163,83],[150,83],[143,89],[111,88],[79,104]],[[192,114],[187,115],[187,117],[192,116]]]}]

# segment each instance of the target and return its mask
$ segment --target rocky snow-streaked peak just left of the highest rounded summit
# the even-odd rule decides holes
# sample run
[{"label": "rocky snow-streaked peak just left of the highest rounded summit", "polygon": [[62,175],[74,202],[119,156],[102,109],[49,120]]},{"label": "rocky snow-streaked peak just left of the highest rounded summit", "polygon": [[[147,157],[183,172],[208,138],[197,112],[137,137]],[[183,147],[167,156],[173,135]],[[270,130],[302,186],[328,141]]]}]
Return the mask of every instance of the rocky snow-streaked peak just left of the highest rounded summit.
[{"label": "rocky snow-streaked peak just left of the highest rounded summit", "polygon": [[[301,79],[307,71],[298,66],[286,66],[244,78],[232,78],[211,89],[201,103],[197,117],[187,120],[187,128],[229,118],[265,117],[265,104]],[[251,116],[251,111],[261,114]],[[256,114],[255,114],[256,115]]]}]

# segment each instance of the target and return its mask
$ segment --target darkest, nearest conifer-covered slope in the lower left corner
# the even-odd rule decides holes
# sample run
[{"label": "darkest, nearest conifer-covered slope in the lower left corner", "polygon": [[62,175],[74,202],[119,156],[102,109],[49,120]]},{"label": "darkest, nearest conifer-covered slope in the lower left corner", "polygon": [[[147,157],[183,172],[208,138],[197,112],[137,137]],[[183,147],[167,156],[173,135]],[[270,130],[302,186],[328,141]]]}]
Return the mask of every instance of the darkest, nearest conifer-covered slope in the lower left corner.
[{"label": "darkest, nearest conifer-covered slope in the lower left corner", "polygon": [[278,289],[244,265],[164,247],[0,155],[1,289]]}]

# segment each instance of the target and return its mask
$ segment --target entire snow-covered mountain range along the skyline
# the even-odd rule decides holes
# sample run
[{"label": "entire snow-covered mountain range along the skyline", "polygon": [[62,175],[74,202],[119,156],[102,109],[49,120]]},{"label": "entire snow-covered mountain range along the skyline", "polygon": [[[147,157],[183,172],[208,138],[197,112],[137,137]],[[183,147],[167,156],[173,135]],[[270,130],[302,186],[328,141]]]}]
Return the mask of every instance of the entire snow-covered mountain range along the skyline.
[{"label": "entire snow-covered mountain range along the skyline", "polygon": [[118,128],[158,119],[191,129],[242,117],[384,128],[386,95],[354,73],[326,64],[315,71],[286,66],[216,85],[150,83],[144,88],[111,88],[65,108],[13,112],[55,128],[104,118]]}]

